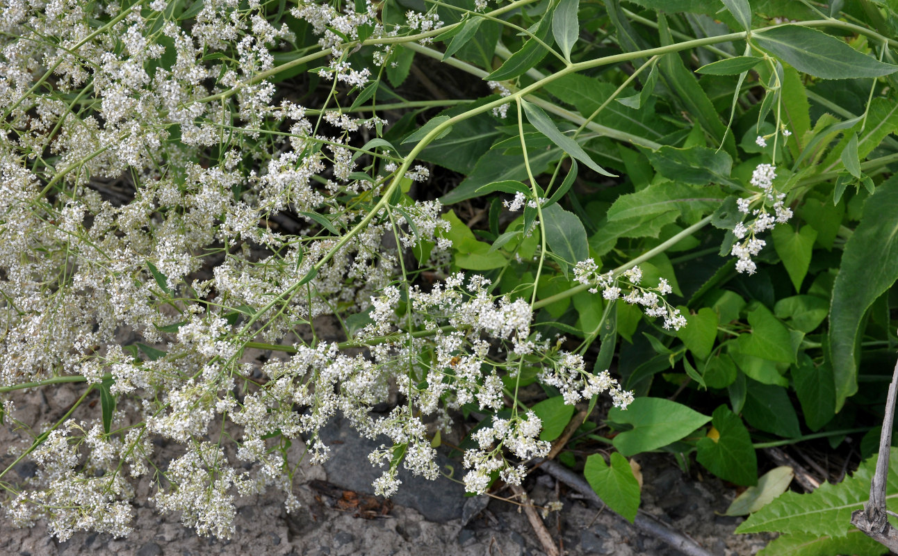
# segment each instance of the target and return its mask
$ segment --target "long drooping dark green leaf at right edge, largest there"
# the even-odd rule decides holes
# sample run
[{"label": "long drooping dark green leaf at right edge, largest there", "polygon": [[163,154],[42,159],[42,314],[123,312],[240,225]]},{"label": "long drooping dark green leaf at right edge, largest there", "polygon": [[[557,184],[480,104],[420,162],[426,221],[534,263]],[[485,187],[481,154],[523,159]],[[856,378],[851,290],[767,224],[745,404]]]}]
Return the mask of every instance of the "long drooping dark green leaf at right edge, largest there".
[{"label": "long drooping dark green leaf at right edge, largest there", "polygon": [[841,269],[832,287],[830,353],[836,411],[858,391],[857,343],[860,322],[898,278],[898,175],[876,188],[864,203],[860,224],[845,243]]}]

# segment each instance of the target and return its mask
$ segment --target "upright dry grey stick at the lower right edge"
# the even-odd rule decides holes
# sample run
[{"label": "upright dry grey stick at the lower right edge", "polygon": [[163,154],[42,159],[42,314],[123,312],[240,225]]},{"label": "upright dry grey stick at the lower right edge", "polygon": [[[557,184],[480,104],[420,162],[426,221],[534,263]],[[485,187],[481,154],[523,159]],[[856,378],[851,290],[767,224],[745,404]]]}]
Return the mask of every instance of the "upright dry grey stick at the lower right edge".
[{"label": "upright dry grey stick at the lower right edge", "polygon": [[885,509],[885,484],[889,474],[889,450],[892,445],[892,423],[895,413],[895,390],[898,387],[898,363],[892,374],[892,384],[885,398],[883,431],[879,435],[879,457],[876,458],[876,473],[870,482],[870,499],[864,509],[851,513],[851,523],[877,543],[892,552],[898,552],[898,530],[889,523]]}]

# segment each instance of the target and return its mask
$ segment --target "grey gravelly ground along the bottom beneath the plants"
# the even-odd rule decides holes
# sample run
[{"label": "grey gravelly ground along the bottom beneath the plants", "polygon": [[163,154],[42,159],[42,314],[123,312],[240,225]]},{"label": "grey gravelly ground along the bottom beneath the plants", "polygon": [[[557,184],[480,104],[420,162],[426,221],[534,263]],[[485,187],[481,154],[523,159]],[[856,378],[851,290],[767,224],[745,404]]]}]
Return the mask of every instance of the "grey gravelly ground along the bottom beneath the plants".
[{"label": "grey gravelly ground along the bottom beneath the plants", "polygon": [[[81,385],[83,387],[83,385]],[[26,423],[49,422],[75,401],[79,385],[59,386],[45,392],[19,396],[15,417]],[[84,406],[81,419],[99,413],[99,404]],[[359,438],[341,420],[336,420],[322,433],[332,446],[332,457],[323,466],[304,466],[295,481],[295,493],[303,506],[287,515],[283,498],[272,491],[237,500],[236,534],[230,541],[198,537],[180,525],[178,516],[161,516],[145,500],[153,494],[148,479],[137,486],[134,507],[134,532],[123,539],[108,534],[79,533],[65,543],[50,538],[46,527],[13,528],[0,512],[0,554],[22,556],[79,556],[117,554],[121,556],[441,556],[462,555],[537,555],[544,554],[524,512],[505,499],[510,491],[501,490],[495,497],[463,496],[462,486],[441,479],[426,481],[401,476],[403,484],[390,502],[367,494],[379,472],[367,462],[371,441]],[[6,422],[0,428],[0,447],[5,448],[25,439]],[[161,444],[164,455],[177,454],[180,446]],[[303,446],[295,442],[292,450],[299,455]],[[5,454],[5,449],[2,450]],[[441,455],[441,465],[462,471],[460,462]],[[645,481],[642,510],[691,536],[709,552],[719,556],[743,556],[758,552],[767,538],[760,535],[734,535],[741,518],[718,516],[735,498],[735,490],[717,479],[700,481],[684,474],[665,455],[641,455]],[[0,469],[13,462],[10,455],[0,456]],[[4,477],[13,483],[33,475],[33,463],[19,463]],[[607,510],[588,507],[579,495],[564,484],[541,472],[535,472],[524,483],[538,505],[559,500],[560,512],[552,512],[544,520],[562,554],[678,554],[655,538],[639,533]],[[365,518],[365,517],[370,518]]]}]

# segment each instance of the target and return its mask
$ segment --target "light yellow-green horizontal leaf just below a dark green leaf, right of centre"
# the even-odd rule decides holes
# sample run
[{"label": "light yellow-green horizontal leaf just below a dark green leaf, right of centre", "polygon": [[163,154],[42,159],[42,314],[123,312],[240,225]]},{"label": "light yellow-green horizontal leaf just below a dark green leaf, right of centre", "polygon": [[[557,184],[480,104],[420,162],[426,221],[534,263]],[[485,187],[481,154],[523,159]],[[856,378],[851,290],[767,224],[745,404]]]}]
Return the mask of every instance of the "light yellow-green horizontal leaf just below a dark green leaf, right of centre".
[{"label": "light yellow-green horizontal leaf just below a dark green leaf, right of centre", "polygon": [[699,188],[683,183],[654,183],[644,190],[621,195],[608,209],[608,220],[634,216],[659,215],[670,210],[707,214],[715,210],[723,193],[713,188]]}]

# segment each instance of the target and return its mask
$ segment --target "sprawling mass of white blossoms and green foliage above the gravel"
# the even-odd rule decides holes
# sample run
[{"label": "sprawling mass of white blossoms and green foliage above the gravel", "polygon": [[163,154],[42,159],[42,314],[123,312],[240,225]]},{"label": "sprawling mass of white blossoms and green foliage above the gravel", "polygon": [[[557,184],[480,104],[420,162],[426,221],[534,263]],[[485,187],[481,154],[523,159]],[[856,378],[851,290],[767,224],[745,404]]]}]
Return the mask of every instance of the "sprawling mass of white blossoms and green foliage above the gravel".
[{"label": "sprawling mass of white blossoms and green foliage above the gravel", "polygon": [[858,434],[898,18],[674,4],[0,0],[6,514],[125,535],[149,478],[227,537],[338,415],[377,494],[558,457],[631,519],[597,452],[752,485],[758,443]]}]

